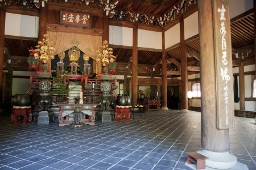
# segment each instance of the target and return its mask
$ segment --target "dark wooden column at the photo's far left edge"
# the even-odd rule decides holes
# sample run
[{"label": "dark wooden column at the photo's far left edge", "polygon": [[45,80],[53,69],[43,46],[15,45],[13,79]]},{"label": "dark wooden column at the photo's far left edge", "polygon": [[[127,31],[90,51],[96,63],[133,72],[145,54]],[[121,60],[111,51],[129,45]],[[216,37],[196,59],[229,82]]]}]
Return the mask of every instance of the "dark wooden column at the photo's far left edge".
[{"label": "dark wooden column at the photo's far left edge", "polygon": [[[5,8],[0,7],[0,95],[3,94],[3,58],[5,57]],[[0,97],[0,103],[2,103],[2,97]]]}]

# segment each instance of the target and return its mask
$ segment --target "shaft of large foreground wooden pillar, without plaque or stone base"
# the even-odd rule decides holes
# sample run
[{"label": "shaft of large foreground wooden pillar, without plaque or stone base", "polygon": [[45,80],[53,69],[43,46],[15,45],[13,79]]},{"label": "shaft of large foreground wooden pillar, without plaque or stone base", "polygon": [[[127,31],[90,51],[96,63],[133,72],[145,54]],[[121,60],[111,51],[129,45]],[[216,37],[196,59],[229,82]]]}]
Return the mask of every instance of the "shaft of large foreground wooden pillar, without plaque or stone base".
[{"label": "shaft of large foreground wooden pillar, without plaque or stone base", "polygon": [[229,130],[217,129],[216,67],[214,59],[212,0],[197,1],[199,7],[202,147],[229,150]]}]

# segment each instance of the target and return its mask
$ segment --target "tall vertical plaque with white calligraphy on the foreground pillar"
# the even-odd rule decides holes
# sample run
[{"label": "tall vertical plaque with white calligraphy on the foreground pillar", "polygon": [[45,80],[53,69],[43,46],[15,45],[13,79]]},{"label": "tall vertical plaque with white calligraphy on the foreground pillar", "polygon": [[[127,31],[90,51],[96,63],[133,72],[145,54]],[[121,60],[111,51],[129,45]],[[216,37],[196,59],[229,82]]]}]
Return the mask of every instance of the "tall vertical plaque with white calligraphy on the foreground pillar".
[{"label": "tall vertical plaque with white calligraphy on the foreground pillar", "polygon": [[233,70],[229,5],[213,0],[214,50],[217,87],[217,128],[234,126]]}]

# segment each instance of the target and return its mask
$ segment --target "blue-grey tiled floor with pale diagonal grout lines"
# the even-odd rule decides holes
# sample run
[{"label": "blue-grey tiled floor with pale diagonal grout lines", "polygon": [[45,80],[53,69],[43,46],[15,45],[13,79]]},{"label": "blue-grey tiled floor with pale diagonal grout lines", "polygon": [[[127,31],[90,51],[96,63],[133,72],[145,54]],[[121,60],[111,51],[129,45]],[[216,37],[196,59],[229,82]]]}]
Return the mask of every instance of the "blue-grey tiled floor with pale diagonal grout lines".
[{"label": "blue-grey tiled floor with pale diagonal grout lines", "polygon": [[[0,169],[189,169],[185,152],[201,144],[200,112],[151,111],[129,122],[59,127],[12,125],[0,118]],[[256,125],[236,117],[231,152],[256,169]]]}]

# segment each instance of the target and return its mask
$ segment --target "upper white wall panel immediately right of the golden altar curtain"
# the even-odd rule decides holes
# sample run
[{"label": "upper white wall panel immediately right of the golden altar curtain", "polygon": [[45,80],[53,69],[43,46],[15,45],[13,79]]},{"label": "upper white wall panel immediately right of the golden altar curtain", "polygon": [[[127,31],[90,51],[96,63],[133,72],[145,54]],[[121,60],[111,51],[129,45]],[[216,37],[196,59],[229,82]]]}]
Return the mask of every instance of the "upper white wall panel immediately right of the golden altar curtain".
[{"label": "upper white wall panel immediately right of the golden altar curtain", "polygon": [[133,28],[109,25],[109,44],[133,46]]}]

